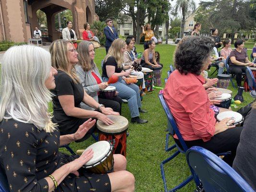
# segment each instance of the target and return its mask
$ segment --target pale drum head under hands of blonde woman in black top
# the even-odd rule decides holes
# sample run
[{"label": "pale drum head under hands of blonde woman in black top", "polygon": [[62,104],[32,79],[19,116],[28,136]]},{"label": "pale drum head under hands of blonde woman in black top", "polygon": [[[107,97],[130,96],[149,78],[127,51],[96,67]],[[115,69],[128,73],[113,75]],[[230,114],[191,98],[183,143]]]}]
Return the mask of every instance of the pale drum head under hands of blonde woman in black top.
[{"label": "pale drum head under hands of blonde woman in black top", "polygon": [[106,125],[101,120],[97,120],[97,127],[101,132],[117,133],[123,132],[128,128],[128,120],[121,115],[108,115],[110,120],[114,121],[112,125]]}]

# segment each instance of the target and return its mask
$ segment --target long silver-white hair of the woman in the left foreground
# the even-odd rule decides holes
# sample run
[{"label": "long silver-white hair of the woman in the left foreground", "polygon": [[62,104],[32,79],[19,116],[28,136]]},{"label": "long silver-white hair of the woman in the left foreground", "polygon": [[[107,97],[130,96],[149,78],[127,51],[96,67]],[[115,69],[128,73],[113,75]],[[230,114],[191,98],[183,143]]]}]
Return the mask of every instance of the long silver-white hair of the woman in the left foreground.
[{"label": "long silver-white hair of the woman in the left foreground", "polygon": [[51,93],[45,85],[51,69],[50,53],[32,45],[9,48],[1,64],[0,121],[33,123],[39,130],[49,123]]}]

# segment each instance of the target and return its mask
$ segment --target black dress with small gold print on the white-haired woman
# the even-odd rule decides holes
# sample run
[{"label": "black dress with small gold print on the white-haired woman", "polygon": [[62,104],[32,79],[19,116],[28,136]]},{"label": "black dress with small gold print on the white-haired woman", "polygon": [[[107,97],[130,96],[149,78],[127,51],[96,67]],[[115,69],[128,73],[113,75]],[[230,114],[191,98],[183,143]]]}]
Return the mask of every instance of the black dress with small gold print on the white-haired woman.
[{"label": "black dress with small gold print on the white-haired woman", "polygon": [[[59,153],[60,132],[39,131],[33,124],[16,120],[0,122],[0,169],[5,171],[11,192],[48,192],[44,179],[61,165],[78,156]],[[107,174],[79,169],[79,177],[69,174],[56,192],[110,192]]]}]

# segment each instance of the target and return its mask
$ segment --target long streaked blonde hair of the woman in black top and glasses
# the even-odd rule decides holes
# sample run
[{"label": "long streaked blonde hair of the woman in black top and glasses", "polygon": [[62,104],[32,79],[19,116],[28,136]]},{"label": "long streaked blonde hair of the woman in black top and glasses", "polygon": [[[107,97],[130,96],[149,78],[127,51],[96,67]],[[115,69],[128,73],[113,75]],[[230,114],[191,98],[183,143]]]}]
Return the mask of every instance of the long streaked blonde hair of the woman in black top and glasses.
[{"label": "long streaked blonde hair of the woman in black top and glasses", "polygon": [[73,82],[77,84],[79,83],[79,78],[76,75],[74,66],[71,71],[68,70],[68,65],[70,64],[70,61],[68,58],[67,45],[69,43],[73,45],[72,41],[59,39],[59,40],[53,41],[50,44],[49,51],[51,54],[51,65],[55,69],[66,72],[71,77]]}]

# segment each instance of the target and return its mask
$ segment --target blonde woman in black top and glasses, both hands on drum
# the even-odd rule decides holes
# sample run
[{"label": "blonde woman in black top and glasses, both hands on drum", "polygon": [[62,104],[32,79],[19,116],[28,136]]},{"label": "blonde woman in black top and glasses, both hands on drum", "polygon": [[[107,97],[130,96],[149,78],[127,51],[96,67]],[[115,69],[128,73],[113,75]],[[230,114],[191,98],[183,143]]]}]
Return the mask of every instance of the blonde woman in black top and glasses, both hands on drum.
[{"label": "blonde woman in black top and glasses, both hands on drum", "polygon": [[[56,88],[52,90],[53,97],[53,122],[59,125],[61,135],[76,132],[79,125],[89,118],[96,118],[105,124],[112,124],[106,115],[118,115],[111,108],[105,108],[89,96],[82,84],[80,84],[74,69],[78,62],[78,53],[71,41],[56,40],[49,48],[52,66],[58,71],[55,76]],[[80,103],[97,110],[82,109]],[[79,141],[87,139],[96,129],[96,125],[90,129],[85,137]]]}]

